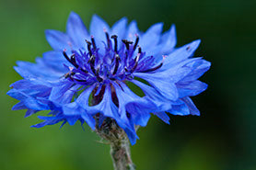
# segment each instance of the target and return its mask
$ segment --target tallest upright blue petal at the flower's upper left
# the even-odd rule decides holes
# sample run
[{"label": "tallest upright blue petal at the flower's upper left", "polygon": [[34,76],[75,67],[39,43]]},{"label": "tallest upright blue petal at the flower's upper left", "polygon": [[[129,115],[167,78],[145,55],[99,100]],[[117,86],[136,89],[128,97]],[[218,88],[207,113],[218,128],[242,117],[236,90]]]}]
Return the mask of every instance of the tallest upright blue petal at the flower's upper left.
[{"label": "tallest upright blue petal at the flower's upper left", "polygon": [[66,32],[79,49],[85,47],[85,40],[89,39],[89,35],[82,19],[75,12],[71,12],[68,17]]}]

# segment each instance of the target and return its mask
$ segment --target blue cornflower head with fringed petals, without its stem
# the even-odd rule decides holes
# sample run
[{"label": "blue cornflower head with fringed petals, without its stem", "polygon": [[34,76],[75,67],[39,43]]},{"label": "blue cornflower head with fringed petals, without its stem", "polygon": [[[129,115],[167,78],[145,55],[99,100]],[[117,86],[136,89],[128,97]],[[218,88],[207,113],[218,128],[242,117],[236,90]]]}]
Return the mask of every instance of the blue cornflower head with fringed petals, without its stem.
[{"label": "blue cornflower head with fringed petals, without its stem", "polygon": [[[46,30],[52,51],[36,63],[17,62],[24,79],[10,85],[9,96],[20,100],[13,109],[28,109],[25,117],[51,110],[49,117],[32,127],[58,122],[74,125],[86,121],[92,130],[114,120],[128,135],[138,138],[135,126],[145,126],[150,114],[169,123],[169,116],[199,115],[190,96],[207,85],[197,80],[210,67],[201,57],[192,58],[200,40],[175,48],[175,26],[162,32],[162,23],[138,30],[122,18],[111,28],[92,17],[90,32],[72,12],[66,33]],[[143,91],[137,95],[128,85]]]}]

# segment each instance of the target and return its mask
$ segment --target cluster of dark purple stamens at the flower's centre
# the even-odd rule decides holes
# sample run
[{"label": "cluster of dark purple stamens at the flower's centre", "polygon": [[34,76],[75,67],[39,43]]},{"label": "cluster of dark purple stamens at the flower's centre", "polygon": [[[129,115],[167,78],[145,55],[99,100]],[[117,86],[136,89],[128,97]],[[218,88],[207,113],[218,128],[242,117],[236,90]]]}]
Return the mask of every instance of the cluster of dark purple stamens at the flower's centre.
[{"label": "cluster of dark purple stamens at the flower's centre", "polygon": [[145,52],[142,52],[141,47],[138,46],[137,35],[135,42],[122,40],[122,47],[118,50],[118,37],[116,35],[110,37],[107,31],[105,34],[107,44],[105,44],[104,54],[99,52],[93,36],[91,41],[86,40],[87,52],[72,51],[73,54],[69,57],[66,51],[63,51],[65,59],[74,66],[69,67],[70,72],[64,75],[65,78],[80,85],[92,85],[95,82],[107,83],[110,80],[133,79],[134,72],[153,72],[162,66],[163,62],[157,66],[148,67],[148,61],[153,62],[154,58],[153,56],[145,57]]}]

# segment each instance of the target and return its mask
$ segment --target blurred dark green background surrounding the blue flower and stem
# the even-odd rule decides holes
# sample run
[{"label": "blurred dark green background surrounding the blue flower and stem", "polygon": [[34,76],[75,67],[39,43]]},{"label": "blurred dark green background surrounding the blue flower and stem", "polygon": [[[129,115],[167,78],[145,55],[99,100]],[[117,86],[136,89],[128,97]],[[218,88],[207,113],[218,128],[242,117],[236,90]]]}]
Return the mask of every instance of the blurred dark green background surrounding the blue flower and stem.
[{"label": "blurred dark green background surrounding the blue flower and stem", "polygon": [[135,19],[141,30],[164,22],[176,24],[178,45],[203,42],[196,55],[212,62],[201,80],[209,85],[193,97],[201,117],[157,118],[138,131],[132,147],[138,170],[256,169],[256,1],[255,0],[1,0],[0,1],[0,169],[112,169],[109,146],[80,125],[32,129],[35,116],[11,111],[17,101],[6,96],[20,79],[17,60],[34,62],[50,51],[47,28],[64,30],[75,11],[88,26],[93,14],[110,25],[121,17]]}]

